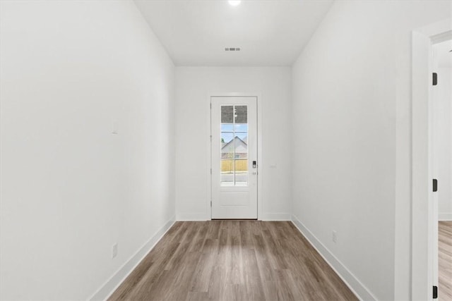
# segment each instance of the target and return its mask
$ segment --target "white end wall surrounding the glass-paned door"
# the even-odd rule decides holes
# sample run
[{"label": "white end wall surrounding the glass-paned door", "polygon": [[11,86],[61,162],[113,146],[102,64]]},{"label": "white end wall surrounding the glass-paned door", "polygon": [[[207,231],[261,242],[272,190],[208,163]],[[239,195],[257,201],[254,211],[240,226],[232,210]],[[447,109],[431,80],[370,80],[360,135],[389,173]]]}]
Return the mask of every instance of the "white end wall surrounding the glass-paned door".
[{"label": "white end wall surrounding the glass-paned door", "polygon": [[[288,219],[291,209],[289,67],[176,68],[177,219],[210,219],[208,202],[208,95],[258,93],[262,109],[262,212],[260,219]],[[258,117],[259,118],[259,117]],[[190,146],[190,147],[187,147]],[[276,164],[277,168],[270,168]]]}]

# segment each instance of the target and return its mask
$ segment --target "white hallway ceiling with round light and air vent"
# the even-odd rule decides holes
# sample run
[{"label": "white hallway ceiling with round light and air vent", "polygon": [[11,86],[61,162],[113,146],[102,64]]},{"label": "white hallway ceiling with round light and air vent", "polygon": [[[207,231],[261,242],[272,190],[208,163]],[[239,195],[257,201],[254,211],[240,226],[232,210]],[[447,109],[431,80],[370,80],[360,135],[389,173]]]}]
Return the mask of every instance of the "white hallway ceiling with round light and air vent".
[{"label": "white hallway ceiling with round light and air vent", "polygon": [[135,3],[177,66],[290,66],[333,0]]}]

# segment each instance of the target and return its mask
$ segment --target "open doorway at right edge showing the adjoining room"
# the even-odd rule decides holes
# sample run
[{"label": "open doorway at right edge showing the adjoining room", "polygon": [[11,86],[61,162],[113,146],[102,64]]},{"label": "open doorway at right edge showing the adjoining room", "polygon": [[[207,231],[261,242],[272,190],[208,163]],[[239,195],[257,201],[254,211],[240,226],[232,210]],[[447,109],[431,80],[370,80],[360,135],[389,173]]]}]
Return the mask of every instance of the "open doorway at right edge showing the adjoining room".
[{"label": "open doorway at right edge showing the adjoining room", "polygon": [[452,40],[432,46],[434,86],[433,176],[438,231],[434,242],[434,276],[439,300],[452,300]]}]

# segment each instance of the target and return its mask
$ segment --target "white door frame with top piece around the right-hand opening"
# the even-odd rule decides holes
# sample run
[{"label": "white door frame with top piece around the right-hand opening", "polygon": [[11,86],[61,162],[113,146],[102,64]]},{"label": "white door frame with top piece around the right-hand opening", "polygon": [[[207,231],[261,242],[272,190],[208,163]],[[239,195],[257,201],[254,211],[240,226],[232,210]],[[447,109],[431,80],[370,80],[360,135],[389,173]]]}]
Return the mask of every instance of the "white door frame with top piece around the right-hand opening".
[{"label": "white door frame with top piece around the right-hand opening", "polygon": [[432,300],[432,242],[435,226],[432,191],[432,44],[451,37],[451,19],[412,31],[412,300]]}]

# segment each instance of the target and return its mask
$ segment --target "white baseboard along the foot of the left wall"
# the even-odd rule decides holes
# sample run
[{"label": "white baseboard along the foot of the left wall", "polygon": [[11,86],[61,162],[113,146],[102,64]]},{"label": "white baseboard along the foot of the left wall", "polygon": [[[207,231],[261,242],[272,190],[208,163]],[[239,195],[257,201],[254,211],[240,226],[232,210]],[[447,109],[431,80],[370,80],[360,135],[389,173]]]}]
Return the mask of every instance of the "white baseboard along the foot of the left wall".
[{"label": "white baseboard along the foot of the left wall", "polygon": [[119,270],[113,274],[107,282],[105,282],[88,300],[107,300],[107,298],[112,295],[114,290],[116,290],[119,285],[131,274],[131,271],[138,266],[138,264],[144,259],[144,257],[153,250],[153,247],[157,245],[157,242],[167,233],[169,228],[175,223],[175,216],[173,216],[165,225],[160,228],[155,235],[153,235],[148,242],[143,245],[143,247],[136,252]]}]

